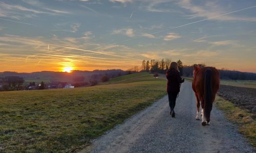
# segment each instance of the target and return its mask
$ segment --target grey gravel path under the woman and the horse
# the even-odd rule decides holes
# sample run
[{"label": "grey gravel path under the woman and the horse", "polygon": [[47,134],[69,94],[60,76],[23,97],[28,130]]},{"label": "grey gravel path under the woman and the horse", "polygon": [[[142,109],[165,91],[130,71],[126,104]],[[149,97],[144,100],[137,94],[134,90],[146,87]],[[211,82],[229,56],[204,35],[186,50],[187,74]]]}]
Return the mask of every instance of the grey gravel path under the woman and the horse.
[{"label": "grey gravel path under the woman and the horse", "polygon": [[191,83],[182,84],[176,117],[169,115],[167,96],[127,119],[81,152],[253,152],[237,126],[215,107],[209,126],[196,117]]}]

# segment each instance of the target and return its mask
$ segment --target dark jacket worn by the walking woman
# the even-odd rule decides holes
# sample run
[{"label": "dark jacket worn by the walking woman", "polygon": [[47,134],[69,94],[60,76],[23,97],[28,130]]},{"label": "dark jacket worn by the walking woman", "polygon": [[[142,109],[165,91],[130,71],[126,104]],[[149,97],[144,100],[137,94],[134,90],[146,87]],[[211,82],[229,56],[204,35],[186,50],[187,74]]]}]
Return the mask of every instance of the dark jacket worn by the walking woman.
[{"label": "dark jacket worn by the walking woman", "polygon": [[167,82],[167,92],[180,92],[180,84],[184,82],[184,80],[180,77],[180,72],[176,69],[169,69],[166,72]]}]

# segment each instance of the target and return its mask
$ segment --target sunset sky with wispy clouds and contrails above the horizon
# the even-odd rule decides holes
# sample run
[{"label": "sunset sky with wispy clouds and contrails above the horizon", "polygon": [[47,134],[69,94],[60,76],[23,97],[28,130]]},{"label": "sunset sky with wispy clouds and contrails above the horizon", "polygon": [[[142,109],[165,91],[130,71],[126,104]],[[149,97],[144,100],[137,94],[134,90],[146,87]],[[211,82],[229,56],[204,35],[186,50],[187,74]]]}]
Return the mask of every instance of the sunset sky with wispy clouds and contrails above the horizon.
[{"label": "sunset sky with wispy clouds and contrails above the horizon", "polygon": [[255,0],[1,0],[0,72],[181,60],[256,72]]}]

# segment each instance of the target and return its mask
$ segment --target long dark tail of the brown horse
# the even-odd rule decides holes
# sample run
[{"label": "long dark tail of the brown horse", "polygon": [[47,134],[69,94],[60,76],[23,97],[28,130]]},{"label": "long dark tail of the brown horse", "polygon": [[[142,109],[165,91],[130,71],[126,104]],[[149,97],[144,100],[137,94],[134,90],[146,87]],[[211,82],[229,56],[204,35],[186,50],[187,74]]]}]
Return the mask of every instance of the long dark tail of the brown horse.
[{"label": "long dark tail of the brown horse", "polygon": [[204,72],[204,114],[207,122],[210,121],[213,94],[212,71],[211,69],[206,69]]}]

